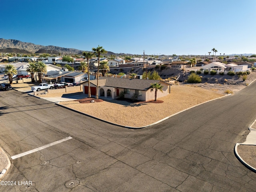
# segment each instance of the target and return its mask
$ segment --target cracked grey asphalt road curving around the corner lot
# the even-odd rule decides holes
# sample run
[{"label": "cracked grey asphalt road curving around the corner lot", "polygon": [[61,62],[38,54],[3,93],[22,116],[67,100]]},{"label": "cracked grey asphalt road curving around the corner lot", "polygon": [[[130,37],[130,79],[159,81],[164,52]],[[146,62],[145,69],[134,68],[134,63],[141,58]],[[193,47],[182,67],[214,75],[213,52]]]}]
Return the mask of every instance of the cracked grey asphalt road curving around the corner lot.
[{"label": "cracked grey asphalt road curving around the corner lot", "polygon": [[254,82],[131,130],[15,90],[0,92],[0,146],[12,162],[3,181],[16,181],[0,191],[256,191],[256,173],[234,155],[256,118],[255,95]]}]

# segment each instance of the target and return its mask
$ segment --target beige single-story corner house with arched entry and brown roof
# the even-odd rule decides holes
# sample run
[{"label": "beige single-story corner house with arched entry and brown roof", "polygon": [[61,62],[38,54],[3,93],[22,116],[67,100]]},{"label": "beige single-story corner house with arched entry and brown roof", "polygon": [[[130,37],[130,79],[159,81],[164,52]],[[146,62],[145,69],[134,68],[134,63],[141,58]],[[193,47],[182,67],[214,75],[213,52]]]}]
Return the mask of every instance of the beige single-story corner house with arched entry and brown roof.
[{"label": "beige single-story corner house with arched entry and brown roof", "polygon": [[[154,83],[160,83],[162,86],[161,92],[158,90],[157,98],[167,96],[170,93],[170,84],[160,80],[145,80],[145,79],[128,79],[128,78],[112,78],[100,77],[98,95],[105,98],[118,98],[121,92],[125,93],[125,98],[132,98],[135,94],[138,100],[149,101],[154,100],[155,90],[151,90],[150,86]],[[82,83],[83,93],[88,94],[88,82]],[[97,80],[90,81],[91,94],[96,95]]]}]

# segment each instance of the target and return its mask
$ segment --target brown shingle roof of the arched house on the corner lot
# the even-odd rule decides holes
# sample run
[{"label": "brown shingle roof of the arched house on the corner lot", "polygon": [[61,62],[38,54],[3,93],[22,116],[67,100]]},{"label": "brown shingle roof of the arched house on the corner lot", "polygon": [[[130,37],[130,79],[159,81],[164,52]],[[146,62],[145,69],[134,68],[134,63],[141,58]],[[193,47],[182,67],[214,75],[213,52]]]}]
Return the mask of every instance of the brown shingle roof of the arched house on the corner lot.
[{"label": "brown shingle roof of the arched house on the corner lot", "polygon": [[[90,80],[94,85],[97,85],[96,80]],[[168,84],[161,80],[146,80],[146,79],[129,79],[129,78],[112,78],[112,77],[100,77],[99,86],[118,87],[134,90],[148,90],[151,84],[154,83]],[[168,84],[170,85],[170,84]]]}]

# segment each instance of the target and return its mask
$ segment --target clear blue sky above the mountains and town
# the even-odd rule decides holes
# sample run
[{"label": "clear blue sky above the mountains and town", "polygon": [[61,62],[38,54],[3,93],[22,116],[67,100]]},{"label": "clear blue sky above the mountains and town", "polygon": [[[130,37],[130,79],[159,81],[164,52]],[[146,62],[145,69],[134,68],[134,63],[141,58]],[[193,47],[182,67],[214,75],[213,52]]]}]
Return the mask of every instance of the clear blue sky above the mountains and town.
[{"label": "clear blue sky above the mountains and town", "polygon": [[255,0],[1,0],[0,38],[114,53],[256,54]]}]

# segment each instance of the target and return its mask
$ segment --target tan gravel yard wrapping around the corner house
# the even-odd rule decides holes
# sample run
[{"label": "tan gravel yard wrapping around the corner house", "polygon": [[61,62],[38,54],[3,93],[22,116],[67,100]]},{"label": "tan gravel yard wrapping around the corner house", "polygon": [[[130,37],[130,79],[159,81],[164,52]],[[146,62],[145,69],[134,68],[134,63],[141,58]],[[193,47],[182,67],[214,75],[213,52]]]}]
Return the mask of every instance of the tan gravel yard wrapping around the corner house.
[{"label": "tan gravel yard wrapping around the corner house", "polygon": [[81,100],[76,100],[60,102],[60,104],[116,124],[140,127],[220,96],[223,94],[212,90],[190,86],[172,86],[171,94],[160,98],[162,103],[131,103],[120,100],[81,103]]}]

